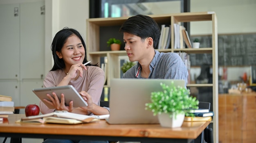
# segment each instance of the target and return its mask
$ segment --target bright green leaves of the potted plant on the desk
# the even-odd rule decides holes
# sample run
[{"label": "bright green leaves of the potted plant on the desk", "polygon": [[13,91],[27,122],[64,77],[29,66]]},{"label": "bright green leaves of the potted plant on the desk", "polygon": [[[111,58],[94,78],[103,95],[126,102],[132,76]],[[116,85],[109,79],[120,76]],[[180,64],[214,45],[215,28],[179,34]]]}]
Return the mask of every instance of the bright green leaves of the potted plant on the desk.
[{"label": "bright green leaves of the potted plant on the desk", "polygon": [[[198,109],[199,101],[190,96],[190,90],[186,87],[175,87],[173,82],[171,87],[160,83],[163,91],[151,93],[150,103],[146,103],[146,110],[153,112],[154,116],[161,113],[184,113],[184,109]],[[185,113],[189,115],[189,113]]]}]

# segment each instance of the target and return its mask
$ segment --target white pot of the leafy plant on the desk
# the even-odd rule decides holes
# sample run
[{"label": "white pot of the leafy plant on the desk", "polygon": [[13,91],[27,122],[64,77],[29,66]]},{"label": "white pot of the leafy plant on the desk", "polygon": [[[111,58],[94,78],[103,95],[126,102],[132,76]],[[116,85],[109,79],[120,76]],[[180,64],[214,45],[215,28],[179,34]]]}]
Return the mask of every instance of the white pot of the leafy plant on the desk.
[{"label": "white pot of the leafy plant on the desk", "polygon": [[169,127],[169,128],[181,127],[184,121],[185,113],[178,114],[176,115],[176,117],[175,115],[170,117],[170,114],[172,113],[161,113],[157,115],[160,125],[162,127]]}]

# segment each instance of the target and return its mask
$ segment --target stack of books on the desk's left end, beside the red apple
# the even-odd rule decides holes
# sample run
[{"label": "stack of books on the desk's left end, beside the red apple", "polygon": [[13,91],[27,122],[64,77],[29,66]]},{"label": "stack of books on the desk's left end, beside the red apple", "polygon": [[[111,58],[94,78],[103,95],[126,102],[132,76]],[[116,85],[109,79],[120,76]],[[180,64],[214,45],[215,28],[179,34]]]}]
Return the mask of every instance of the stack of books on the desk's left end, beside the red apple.
[{"label": "stack of books on the desk's left end, beside the red apple", "polygon": [[7,119],[9,114],[13,114],[14,102],[11,96],[0,95],[0,120]]}]

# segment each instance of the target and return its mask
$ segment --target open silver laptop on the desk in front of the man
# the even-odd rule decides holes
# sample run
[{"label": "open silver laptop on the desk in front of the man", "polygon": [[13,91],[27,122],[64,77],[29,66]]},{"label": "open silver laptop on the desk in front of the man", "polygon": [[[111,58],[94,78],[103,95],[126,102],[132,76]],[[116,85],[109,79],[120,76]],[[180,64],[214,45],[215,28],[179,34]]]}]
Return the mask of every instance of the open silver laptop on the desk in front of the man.
[{"label": "open silver laptop on the desk in front of the man", "polygon": [[113,78],[110,81],[108,124],[159,124],[153,112],[145,110],[153,91],[162,91],[160,82],[185,86],[184,80]]}]

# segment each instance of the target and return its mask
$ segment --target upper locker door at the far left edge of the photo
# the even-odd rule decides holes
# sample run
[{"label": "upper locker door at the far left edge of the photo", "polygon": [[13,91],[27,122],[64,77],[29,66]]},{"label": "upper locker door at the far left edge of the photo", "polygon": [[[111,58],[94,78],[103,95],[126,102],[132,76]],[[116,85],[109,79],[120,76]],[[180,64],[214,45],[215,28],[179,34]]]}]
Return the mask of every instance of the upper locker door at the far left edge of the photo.
[{"label": "upper locker door at the far left edge of the photo", "polygon": [[15,9],[19,4],[0,5],[0,79],[20,76],[20,16],[14,15]]}]

